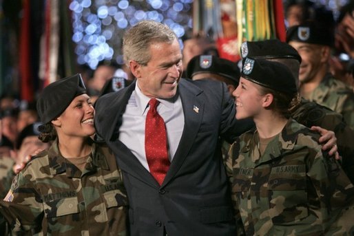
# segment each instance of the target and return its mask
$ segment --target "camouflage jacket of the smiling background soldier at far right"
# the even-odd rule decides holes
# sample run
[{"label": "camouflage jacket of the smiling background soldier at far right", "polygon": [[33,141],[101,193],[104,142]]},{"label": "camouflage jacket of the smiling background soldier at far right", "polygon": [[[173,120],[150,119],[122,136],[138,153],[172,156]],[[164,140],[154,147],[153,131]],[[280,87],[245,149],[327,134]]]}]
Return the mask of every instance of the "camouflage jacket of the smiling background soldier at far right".
[{"label": "camouflage jacket of the smiling background soldier at far right", "polygon": [[353,89],[336,80],[332,74],[326,74],[320,85],[305,98],[342,114],[344,121],[354,129]]}]

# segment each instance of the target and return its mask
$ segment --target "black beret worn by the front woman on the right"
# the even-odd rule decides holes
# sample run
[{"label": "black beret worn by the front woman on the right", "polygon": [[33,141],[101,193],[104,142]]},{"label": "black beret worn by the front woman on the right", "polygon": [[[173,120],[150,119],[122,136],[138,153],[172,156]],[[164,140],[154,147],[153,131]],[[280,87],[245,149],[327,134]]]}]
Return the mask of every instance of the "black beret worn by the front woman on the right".
[{"label": "black beret worn by the front woman on the right", "polygon": [[278,92],[298,92],[293,74],[282,63],[247,57],[243,59],[242,65],[241,76],[253,83]]}]

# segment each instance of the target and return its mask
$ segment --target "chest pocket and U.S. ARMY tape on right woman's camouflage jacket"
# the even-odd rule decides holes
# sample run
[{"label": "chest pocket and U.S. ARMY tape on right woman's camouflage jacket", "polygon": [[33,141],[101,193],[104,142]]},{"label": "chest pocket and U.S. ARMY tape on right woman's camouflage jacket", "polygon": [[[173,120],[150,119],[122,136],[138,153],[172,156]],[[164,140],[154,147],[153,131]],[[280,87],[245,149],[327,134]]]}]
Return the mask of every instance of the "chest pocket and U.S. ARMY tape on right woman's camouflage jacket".
[{"label": "chest pocket and U.S. ARMY tape on right woman's camouflage jacket", "polygon": [[273,167],[268,191],[273,224],[296,222],[309,215],[304,165]]}]

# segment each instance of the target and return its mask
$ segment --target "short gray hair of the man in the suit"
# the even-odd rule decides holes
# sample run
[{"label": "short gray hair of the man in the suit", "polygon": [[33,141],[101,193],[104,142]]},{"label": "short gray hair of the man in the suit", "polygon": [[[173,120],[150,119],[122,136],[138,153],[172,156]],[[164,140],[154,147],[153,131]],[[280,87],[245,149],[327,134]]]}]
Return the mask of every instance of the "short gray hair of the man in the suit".
[{"label": "short gray hair of the man in the suit", "polygon": [[123,36],[125,63],[136,61],[140,65],[147,65],[151,58],[149,47],[152,43],[173,43],[176,39],[176,34],[167,25],[156,21],[140,21]]}]

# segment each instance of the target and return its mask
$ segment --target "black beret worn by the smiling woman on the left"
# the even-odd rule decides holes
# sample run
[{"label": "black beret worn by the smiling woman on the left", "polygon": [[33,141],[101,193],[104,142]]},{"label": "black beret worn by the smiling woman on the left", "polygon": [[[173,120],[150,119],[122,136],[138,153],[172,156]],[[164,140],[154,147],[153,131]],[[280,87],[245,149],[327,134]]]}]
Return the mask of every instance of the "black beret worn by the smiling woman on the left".
[{"label": "black beret worn by the smiling woman on the left", "polygon": [[37,111],[43,124],[60,116],[76,96],[86,94],[80,74],[61,78],[45,87],[37,101]]}]

